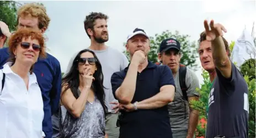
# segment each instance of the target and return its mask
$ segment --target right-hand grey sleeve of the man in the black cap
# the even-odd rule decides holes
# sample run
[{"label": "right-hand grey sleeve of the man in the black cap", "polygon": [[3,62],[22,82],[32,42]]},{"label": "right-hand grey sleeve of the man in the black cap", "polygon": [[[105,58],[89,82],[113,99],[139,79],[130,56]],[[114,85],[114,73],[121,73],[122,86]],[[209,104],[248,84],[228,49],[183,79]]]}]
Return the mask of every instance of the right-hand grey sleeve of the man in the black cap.
[{"label": "right-hand grey sleeve of the man in the black cap", "polygon": [[199,80],[193,71],[186,68],[186,87],[188,90],[186,91],[188,97],[192,96],[200,96],[199,92],[196,91],[196,88],[199,88]]}]

